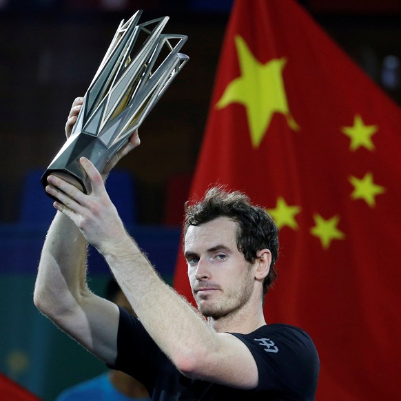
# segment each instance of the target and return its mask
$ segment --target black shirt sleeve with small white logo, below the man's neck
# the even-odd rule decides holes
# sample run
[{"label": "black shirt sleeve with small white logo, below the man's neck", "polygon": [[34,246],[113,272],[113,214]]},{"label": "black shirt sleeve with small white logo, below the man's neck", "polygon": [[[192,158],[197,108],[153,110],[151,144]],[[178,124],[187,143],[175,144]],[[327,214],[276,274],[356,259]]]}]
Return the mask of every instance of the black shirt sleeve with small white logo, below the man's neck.
[{"label": "black shirt sleeve with small white logo, below the man's neck", "polygon": [[289,325],[268,325],[253,333],[233,333],[242,340],[258,366],[258,391],[287,394],[289,399],[313,400],[319,358],[305,331]]}]

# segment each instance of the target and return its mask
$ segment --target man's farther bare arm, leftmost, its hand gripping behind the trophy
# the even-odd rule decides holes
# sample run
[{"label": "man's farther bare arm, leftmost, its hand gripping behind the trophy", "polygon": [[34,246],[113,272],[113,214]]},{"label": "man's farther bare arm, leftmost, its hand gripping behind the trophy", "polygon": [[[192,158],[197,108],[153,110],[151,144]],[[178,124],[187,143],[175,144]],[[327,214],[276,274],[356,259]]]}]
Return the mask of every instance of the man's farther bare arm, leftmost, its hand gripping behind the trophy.
[{"label": "man's farther bare arm, leftmost, its hand gripping behind the trophy", "polygon": [[[82,98],[76,98],[65,125],[70,135]],[[103,176],[139,144],[137,133],[109,163]],[[116,358],[119,310],[93,294],[86,283],[87,241],[72,220],[57,212],[45,238],[34,289],[34,304],[57,326],[107,363]]]}]

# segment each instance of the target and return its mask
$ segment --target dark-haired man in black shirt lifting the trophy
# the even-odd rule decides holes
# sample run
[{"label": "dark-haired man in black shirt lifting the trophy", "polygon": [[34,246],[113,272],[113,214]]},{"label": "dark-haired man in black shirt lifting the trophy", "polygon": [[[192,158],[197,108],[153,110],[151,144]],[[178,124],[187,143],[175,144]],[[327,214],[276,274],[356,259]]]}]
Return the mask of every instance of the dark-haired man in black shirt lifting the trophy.
[{"label": "dark-haired man in black shirt lifting the trophy", "polygon": [[[80,104],[73,104],[67,132]],[[136,133],[103,175],[139,143]],[[127,234],[101,173],[88,159],[81,165],[91,194],[48,178],[59,213],[43,245],[35,305],[108,366],[142,382],[153,400],[313,400],[313,342],[263,317],[278,251],[269,215],[221,189],[189,206],[184,250],[196,311]],[[138,319],[88,289],[86,241],[104,256]]]}]

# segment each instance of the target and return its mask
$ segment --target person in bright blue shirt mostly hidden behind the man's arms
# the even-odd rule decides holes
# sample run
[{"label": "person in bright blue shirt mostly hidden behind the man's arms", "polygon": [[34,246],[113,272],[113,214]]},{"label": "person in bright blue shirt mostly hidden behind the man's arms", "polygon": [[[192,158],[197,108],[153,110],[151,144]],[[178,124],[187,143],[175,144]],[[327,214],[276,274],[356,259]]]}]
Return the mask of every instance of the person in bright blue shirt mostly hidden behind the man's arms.
[{"label": "person in bright blue shirt mostly hidden behind the man's arms", "polygon": [[[113,278],[107,282],[105,298],[136,316],[127,297]],[[56,401],[149,401],[142,383],[122,371],[110,370],[65,389]]]}]

